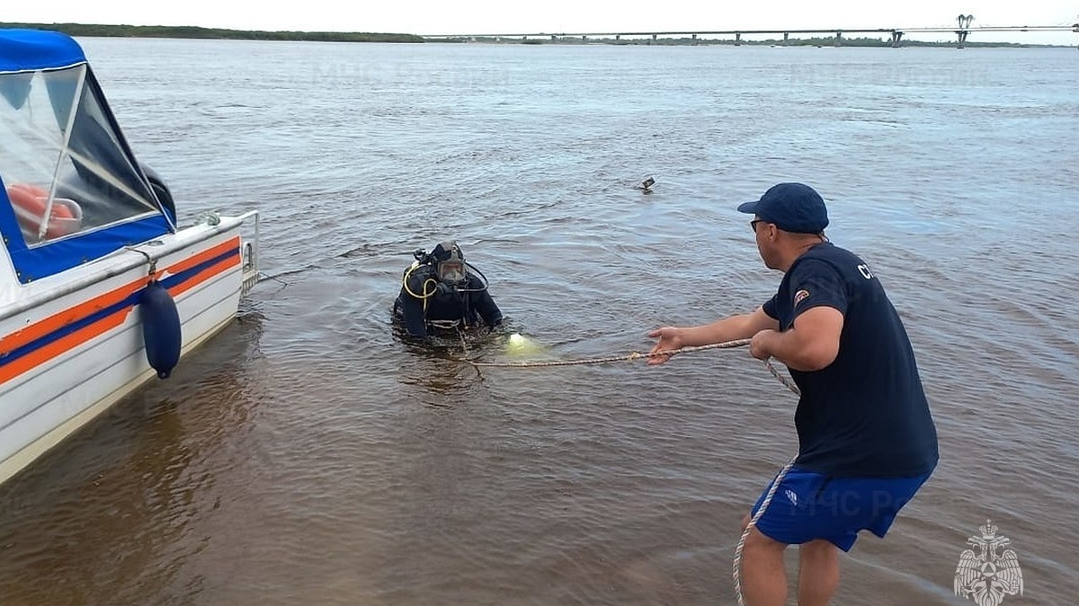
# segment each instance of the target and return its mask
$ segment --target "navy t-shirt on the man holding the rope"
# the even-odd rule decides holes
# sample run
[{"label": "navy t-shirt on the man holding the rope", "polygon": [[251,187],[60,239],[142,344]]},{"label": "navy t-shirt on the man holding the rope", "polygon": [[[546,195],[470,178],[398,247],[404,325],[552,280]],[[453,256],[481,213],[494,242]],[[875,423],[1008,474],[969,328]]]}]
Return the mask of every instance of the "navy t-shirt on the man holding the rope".
[{"label": "navy t-shirt on the man holding the rope", "polygon": [[817,306],[843,313],[828,367],[791,377],[802,390],[796,465],[837,477],[904,478],[937,465],[937,429],[899,314],[869,265],[821,243],[787,271],[764,312],[787,330]]}]

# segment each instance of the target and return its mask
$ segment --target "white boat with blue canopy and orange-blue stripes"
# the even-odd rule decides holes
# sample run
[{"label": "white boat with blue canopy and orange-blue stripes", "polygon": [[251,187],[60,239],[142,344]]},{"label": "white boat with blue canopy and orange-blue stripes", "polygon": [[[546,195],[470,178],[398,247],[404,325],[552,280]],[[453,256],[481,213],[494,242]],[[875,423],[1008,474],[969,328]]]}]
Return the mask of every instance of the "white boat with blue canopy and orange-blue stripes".
[{"label": "white boat with blue canopy and orange-blue stripes", "polygon": [[0,29],[0,483],[167,377],[258,279],[258,212],[178,226],[58,32]]}]

